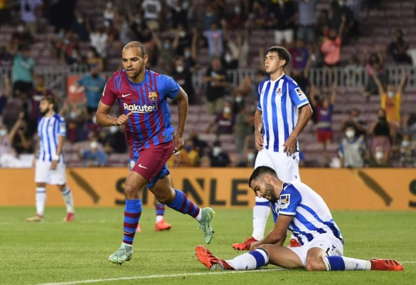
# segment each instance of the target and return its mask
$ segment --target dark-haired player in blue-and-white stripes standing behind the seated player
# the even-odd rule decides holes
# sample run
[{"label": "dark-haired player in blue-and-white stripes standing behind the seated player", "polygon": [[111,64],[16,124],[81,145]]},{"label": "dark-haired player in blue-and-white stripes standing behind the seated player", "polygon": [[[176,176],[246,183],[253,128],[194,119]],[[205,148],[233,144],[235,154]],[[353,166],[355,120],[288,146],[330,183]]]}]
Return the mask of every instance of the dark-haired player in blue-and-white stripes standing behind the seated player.
[{"label": "dark-haired player in blue-and-white stripes standing behind the seated player", "polygon": [[[282,46],[272,46],[265,58],[265,71],[270,75],[259,84],[255,113],[255,145],[259,150],[255,168],[272,167],[287,182],[300,181],[299,144],[297,137],[312,115],[309,100],[297,83],[284,74],[290,55]],[[245,242],[233,244],[234,249],[248,250],[252,242],[263,238],[270,202],[256,197],[253,207],[253,232]],[[274,215],[274,222],[276,222]],[[295,237],[291,247],[298,247]]]}]

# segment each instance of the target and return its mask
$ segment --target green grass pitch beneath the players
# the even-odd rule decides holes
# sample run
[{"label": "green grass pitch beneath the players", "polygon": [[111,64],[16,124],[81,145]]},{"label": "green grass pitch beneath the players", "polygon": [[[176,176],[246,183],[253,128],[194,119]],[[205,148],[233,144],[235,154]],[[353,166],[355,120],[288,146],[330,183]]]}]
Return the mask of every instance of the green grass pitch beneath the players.
[{"label": "green grass pitch beneath the players", "polygon": [[[398,259],[404,272],[209,271],[195,257],[203,232],[190,217],[166,209],[172,229],[154,232],[154,208],[142,214],[132,261],[108,261],[122,242],[123,208],[78,208],[63,223],[63,207],[47,207],[46,221],[25,222],[33,207],[0,207],[0,284],[415,284],[415,212],[333,212],[346,257]],[[215,209],[215,236],[207,247],[220,258],[241,252],[231,244],[252,232],[252,209]],[[267,231],[272,228],[272,217]],[[102,281],[97,281],[102,279]],[[84,281],[82,283],[78,281]]]}]

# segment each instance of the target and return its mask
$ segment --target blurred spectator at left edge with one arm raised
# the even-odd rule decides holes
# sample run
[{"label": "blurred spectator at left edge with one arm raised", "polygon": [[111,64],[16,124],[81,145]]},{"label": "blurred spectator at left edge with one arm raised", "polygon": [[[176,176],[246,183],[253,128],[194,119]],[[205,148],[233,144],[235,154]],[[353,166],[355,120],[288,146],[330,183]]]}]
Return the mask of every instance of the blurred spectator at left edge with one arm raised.
[{"label": "blurred spectator at left edge with one arm raised", "polygon": [[12,142],[21,125],[23,115],[23,113],[18,114],[18,119],[10,132],[7,131],[6,125],[0,122],[0,167],[21,167],[21,161],[12,147]]}]

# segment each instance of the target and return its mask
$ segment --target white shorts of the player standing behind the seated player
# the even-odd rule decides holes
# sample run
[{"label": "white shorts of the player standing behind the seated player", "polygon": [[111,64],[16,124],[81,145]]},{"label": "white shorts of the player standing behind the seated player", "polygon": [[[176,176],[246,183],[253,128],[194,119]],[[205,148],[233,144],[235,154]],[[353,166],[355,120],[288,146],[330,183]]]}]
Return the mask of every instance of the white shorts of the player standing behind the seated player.
[{"label": "white shorts of the player standing behind the seated player", "polygon": [[300,181],[299,152],[287,156],[285,152],[263,149],[257,153],[255,168],[269,166],[277,172],[277,177],[284,182]]}]

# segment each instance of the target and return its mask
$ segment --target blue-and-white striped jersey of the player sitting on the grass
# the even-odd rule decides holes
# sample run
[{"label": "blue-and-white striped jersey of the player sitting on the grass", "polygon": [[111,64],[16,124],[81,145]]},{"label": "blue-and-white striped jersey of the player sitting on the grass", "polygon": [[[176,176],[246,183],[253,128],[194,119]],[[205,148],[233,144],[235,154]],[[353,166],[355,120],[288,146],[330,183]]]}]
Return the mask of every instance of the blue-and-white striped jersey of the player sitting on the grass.
[{"label": "blue-and-white striped jersey of the player sitting on the grass", "polygon": [[294,216],[289,230],[302,245],[311,242],[319,234],[334,234],[343,241],[324,199],[300,181],[283,184],[279,200],[272,205],[272,210],[278,215]]}]

